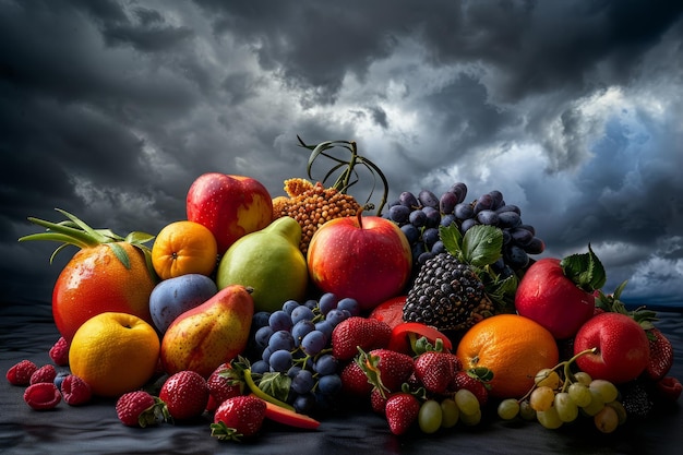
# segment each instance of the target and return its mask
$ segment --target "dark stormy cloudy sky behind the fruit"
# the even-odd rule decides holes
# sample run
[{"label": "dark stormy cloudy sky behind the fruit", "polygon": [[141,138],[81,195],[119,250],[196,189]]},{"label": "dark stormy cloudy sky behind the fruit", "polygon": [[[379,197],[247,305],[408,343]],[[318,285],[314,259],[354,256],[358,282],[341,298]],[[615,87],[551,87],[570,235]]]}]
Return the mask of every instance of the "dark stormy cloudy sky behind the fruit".
[{"label": "dark stormy cloudy sky behind the fruit", "polygon": [[[156,234],[206,171],[273,195],[357,141],[391,197],[463,181],[543,255],[683,299],[683,5],[667,0],[0,0],[0,301],[49,301],[60,220]],[[319,173],[314,177],[322,177]],[[364,200],[369,177],[357,195]]]}]

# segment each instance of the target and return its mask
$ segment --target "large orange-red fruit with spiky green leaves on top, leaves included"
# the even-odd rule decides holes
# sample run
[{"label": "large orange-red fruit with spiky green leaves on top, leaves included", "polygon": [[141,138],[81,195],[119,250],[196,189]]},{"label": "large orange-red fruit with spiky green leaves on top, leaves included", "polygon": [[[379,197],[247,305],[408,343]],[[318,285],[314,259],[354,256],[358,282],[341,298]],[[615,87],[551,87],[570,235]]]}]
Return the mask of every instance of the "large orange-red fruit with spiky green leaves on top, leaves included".
[{"label": "large orange-red fruit with spiky green leaves on top, leaves included", "polygon": [[19,240],[61,242],[50,263],[68,246],[80,248],[61,271],[52,291],[52,316],[67,344],[85,321],[104,312],[129,313],[153,324],[149,296],[158,277],[145,243],[154,236],[134,231],[121,237],[109,229],[93,229],[74,215],[57,211],[68,219],[51,223],[28,218],[47,231]]}]

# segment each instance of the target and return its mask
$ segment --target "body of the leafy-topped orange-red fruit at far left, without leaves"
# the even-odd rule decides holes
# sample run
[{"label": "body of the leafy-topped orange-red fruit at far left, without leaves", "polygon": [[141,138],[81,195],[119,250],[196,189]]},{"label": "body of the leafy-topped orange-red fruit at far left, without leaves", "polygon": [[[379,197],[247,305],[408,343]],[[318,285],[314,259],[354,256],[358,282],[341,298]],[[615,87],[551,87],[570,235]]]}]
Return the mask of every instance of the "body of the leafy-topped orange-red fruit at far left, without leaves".
[{"label": "body of the leafy-topped orange-red fruit at far left, without leaves", "polygon": [[[125,251],[127,267],[113,248]],[[134,314],[152,323],[149,295],[156,277],[143,252],[128,242],[83,248],[59,274],[52,290],[52,316],[59,333],[71,342],[88,319],[104,312]]]}]

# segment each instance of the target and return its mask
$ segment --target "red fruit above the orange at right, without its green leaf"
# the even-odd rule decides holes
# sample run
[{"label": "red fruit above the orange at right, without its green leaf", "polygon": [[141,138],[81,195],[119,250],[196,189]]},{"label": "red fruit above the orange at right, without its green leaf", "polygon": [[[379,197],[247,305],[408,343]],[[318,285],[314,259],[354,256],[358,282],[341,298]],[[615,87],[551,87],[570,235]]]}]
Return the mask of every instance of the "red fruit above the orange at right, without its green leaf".
[{"label": "red fruit above the orange at right, without its green leaf", "polygon": [[578,287],[554,258],[535,262],[524,274],[515,295],[517,313],[541,324],[555,339],[574,336],[592,318],[595,307],[592,290]]}]

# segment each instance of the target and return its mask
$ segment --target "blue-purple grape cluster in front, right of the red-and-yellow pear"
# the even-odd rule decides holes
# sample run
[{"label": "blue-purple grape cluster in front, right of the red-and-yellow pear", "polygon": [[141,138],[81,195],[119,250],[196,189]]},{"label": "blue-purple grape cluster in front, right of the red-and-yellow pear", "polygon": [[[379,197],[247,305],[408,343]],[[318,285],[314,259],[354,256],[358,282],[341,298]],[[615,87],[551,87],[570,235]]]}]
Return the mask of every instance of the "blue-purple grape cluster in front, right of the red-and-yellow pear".
[{"label": "blue-purple grape cluster in front, right of the red-and-yellow pear", "polygon": [[261,311],[252,320],[249,352],[259,381],[288,384],[285,400],[298,412],[324,408],[342,390],[332,332],[360,314],[358,301],[326,292],[319,300],[288,300],[280,310]]}]

